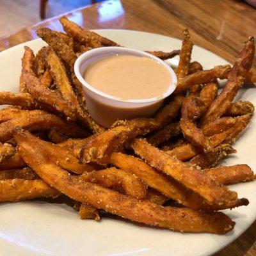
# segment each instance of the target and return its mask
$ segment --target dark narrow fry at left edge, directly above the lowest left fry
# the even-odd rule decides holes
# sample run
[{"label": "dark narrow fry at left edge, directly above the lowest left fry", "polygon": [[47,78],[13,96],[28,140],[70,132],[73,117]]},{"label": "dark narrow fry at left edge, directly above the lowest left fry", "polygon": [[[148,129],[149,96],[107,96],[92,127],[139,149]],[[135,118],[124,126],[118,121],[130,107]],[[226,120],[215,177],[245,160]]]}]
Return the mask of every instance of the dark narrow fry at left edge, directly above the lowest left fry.
[{"label": "dark narrow fry at left edge, directly above the lowest left fry", "polygon": [[0,180],[12,179],[35,180],[40,179],[40,177],[29,167],[22,169],[1,170]]}]

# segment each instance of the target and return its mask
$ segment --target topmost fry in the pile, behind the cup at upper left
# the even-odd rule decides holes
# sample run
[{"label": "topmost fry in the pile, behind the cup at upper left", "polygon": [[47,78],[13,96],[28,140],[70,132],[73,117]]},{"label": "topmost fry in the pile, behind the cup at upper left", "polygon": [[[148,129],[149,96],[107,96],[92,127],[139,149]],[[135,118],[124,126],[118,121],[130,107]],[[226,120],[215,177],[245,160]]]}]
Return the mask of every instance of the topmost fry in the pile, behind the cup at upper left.
[{"label": "topmost fry in the pile, behind the cup at upper left", "polygon": [[99,38],[97,38],[97,36],[94,36],[94,35],[91,36],[92,33],[90,33],[90,31],[84,30],[83,28],[78,26],[76,23],[68,20],[67,17],[61,17],[60,22],[61,22],[61,25],[63,26],[63,29],[67,33],[67,35],[74,38],[80,44],[83,44],[85,46],[90,46],[93,48],[101,47]]}]

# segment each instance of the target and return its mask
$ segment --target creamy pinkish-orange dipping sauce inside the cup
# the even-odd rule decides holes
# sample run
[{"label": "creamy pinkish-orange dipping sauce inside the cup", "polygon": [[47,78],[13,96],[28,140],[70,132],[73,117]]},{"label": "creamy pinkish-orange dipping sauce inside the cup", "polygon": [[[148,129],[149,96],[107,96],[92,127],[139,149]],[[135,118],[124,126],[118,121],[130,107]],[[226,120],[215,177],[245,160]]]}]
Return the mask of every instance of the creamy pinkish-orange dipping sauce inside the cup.
[{"label": "creamy pinkish-orange dipping sauce inside the cup", "polygon": [[172,82],[162,63],[143,56],[114,55],[92,63],[85,81],[122,100],[161,97]]}]

